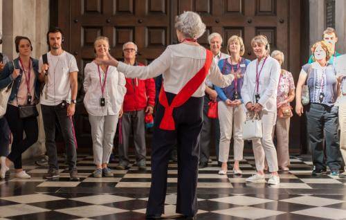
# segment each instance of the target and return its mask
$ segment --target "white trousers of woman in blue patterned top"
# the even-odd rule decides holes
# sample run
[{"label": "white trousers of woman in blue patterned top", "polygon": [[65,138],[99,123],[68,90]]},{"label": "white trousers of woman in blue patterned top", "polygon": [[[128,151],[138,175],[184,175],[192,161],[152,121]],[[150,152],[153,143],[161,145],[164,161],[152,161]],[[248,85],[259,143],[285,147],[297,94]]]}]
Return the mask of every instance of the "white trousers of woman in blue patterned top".
[{"label": "white trousers of woman in blue patterned top", "polygon": [[220,147],[219,161],[226,163],[230,153],[230,138],[234,139],[234,154],[235,161],[242,161],[244,140],[243,122],[245,120],[244,104],[237,107],[230,107],[225,102],[220,101],[217,105],[220,124]]}]

